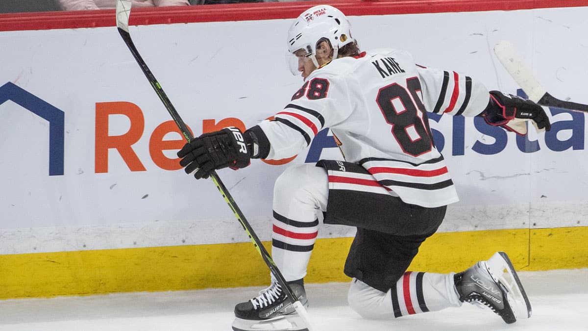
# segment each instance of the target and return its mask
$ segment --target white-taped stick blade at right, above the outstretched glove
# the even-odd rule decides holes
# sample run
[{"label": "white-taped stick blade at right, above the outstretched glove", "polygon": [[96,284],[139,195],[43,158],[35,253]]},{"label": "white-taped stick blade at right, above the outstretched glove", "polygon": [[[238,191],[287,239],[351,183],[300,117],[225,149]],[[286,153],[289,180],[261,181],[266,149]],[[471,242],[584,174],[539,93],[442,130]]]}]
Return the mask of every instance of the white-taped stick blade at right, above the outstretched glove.
[{"label": "white-taped stick blade at right, above the outstretched glove", "polygon": [[494,52],[506,71],[527,94],[529,100],[537,102],[545,95],[547,91],[533,76],[533,72],[524,65],[522,58],[510,42],[500,41],[495,45]]}]

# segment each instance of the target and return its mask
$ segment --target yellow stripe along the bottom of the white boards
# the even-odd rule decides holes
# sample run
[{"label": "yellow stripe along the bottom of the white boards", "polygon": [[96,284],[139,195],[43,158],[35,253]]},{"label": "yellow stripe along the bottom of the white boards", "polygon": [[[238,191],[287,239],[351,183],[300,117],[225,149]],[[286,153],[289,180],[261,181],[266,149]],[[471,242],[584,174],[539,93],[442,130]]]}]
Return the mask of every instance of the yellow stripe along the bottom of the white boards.
[{"label": "yellow stripe along the bottom of the white boards", "polygon": [[[318,239],[307,283],[346,282],[352,238]],[[437,233],[410,270],[459,272],[495,251],[517,270],[588,267],[588,227]],[[270,251],[270,242],[263,243]],[[251,243],[0,255],[0,299],[262,286],[269,270]]]}]

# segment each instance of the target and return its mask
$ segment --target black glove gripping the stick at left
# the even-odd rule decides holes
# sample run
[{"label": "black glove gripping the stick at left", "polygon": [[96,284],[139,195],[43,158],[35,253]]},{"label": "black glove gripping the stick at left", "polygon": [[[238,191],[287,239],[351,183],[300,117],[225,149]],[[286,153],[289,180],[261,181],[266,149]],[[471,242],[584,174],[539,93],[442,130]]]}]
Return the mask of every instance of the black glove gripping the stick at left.
[{"label": "black glove gripping the stick at left", "polygon": [[235,127],[202,134],[185,144],[178,157],[187,174],[196,171],[196,179],[208,178],[212,171],[226,167],[245,168],[250,159],[243,133]]}]

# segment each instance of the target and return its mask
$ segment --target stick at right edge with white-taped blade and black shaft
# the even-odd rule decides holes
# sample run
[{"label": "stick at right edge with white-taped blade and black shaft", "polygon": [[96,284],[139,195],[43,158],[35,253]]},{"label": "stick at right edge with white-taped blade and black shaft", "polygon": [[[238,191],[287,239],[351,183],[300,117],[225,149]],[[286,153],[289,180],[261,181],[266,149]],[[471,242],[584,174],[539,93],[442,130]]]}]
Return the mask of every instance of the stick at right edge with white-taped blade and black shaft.
[{"label": "stick at right edge with white-taped blade and black shaft", "polygon": [[494,47],[496,57],[500,60],[506,71],[519,84],[527,94],[529,100],[547,107],[557,107],[573,111],[588,112],[588,105],[576,102],[563,101],[553,97],[533,76],[533,72],[523,63],[517,54],[515,47],[507,41],[500,41]]}]

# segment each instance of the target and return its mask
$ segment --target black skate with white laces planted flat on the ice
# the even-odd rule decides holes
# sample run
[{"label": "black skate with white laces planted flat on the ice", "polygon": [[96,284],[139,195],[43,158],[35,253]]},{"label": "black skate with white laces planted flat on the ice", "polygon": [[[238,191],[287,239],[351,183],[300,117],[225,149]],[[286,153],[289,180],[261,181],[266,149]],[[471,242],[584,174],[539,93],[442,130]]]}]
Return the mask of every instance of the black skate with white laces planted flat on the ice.
[{"label": "black skate with white laces planted flat on the ice", "polygon": [[[308,307],[302,279],[288,282],[288,286],[300,303]],[[308,331],[278,282],[272,282],[267,289],[259,292],[259,296],[235,306],[233,330]]]}]

